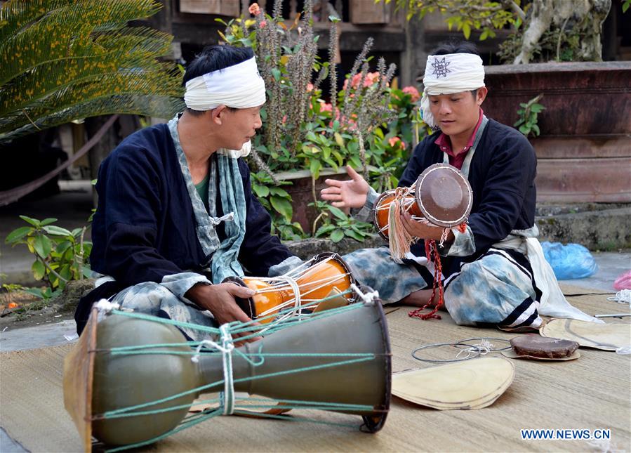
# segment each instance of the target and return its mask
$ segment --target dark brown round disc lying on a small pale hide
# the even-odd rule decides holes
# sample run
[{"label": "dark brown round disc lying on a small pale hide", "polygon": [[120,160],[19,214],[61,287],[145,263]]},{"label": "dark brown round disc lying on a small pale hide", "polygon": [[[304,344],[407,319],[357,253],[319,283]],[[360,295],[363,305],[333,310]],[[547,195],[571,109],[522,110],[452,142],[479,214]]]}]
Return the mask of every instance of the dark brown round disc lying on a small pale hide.
[{"label": "dark brown round disc lying on a small pale hide", "polygon": [[502,351],[506,357],[535,360],[573,360],[580,357],[576,341],[539,335],[516,336],[511,339],[510,346],[512,350]]}]

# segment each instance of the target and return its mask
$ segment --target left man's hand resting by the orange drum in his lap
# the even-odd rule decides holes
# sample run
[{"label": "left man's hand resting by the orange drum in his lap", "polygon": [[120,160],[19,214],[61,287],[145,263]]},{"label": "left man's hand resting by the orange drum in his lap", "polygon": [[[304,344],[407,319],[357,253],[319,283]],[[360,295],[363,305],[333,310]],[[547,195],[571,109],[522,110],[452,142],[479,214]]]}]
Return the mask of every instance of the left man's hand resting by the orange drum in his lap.
[{"label": "left man's hand resting by the orange drum in his lap", "polygon": [[[248,298],[254,295],[254,290],[241,287],[234,283],[196,284],[189,289],[185,296],[204,310],[210,311],[219,325],[227,322],[251,322],[252,320],[241,310],[234,298]],[[253,325],[260,325],[258,322]],[[247,332],[233,334],[235,338],[246,336]],[[256,341],[260,337],[248,339]]]}]

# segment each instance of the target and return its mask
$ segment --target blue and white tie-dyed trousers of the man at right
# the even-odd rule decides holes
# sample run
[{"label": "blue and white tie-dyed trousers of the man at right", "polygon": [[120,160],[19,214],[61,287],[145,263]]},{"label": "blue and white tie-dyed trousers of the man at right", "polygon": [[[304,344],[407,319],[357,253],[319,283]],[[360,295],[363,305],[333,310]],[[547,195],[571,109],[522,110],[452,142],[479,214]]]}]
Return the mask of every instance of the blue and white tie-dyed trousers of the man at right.
[{"label": "blue and white tie-dyed trousers of the man at right", "polygon": [[[432,273],[409,261],[395,263],[387,247],[361,249],[343,256],[361,283],[376,289],[384,303],[432,287]],[[451,257],[444,257],[449,260]],[[443,266],[443,269],[449,266]],[[444,275],[445,306],[457,324],[539,327],[541,293],[526,256],[515,250],[489,249],[471,263]]]}]

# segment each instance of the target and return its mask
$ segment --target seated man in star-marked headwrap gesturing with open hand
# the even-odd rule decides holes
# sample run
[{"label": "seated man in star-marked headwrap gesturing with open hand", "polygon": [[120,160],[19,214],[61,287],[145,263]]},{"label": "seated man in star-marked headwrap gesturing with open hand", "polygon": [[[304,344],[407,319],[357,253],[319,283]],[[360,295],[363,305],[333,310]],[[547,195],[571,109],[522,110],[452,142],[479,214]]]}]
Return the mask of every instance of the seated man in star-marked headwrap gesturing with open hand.
[{"label": "seated man in star-marked headwrap gesturing with open hand", "polygon": [[[487,119],[484,66],[475,47],[463,42],[439,47],[427,58],[423,77],[423,120],[434,129],[413,151],[399,186],[410,187],[427,167],[456,166],[470,182],[472,210],[466,230],[443,228],[401,214],[412,237],[443,239],[441,254],[446,309],[458,324],[496,324],[505,329],[538,328],[540,315],[595,321],[573,308],[559,290],[543,258],[535,225],[537,159],[521,133]],[[347,167],[352,180],[327,180],[322,198],[371,218],[378,194]],[[427,269],[424,240],[395,263],[387,247],[344,256],[362,284],[387,302],[412,306],[437,303]],[[437,291],[438,292],[438,291]]]}]

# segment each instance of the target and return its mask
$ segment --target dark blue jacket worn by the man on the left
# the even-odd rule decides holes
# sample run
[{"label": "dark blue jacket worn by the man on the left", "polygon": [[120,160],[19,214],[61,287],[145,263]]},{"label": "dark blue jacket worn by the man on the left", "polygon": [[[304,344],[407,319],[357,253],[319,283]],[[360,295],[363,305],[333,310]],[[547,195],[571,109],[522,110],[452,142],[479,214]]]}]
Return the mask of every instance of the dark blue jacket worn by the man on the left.
[{"label": "dark blue jacket worn by the man on the left", "polygon": [[[239,172],[247,209],[239,263],[251,275],[265,277],[272,265],[292,254],[278,237],[270,235],[270,215],[252,193],[243,159],[239,159]],[[90,263],[93,270],[111,275],[116,283],[88,294],[81,301],[82,310],[89,312],[93,301],[134,284],[159,283],[165,275],[207,265],[210,256],[197,239],[192,203],[166,124],[123,140],[102,162],[96,190],[99,199]],[[220,199],[217,203],[221,216]],[[221,225],[218,235],[225,239]]]}]

